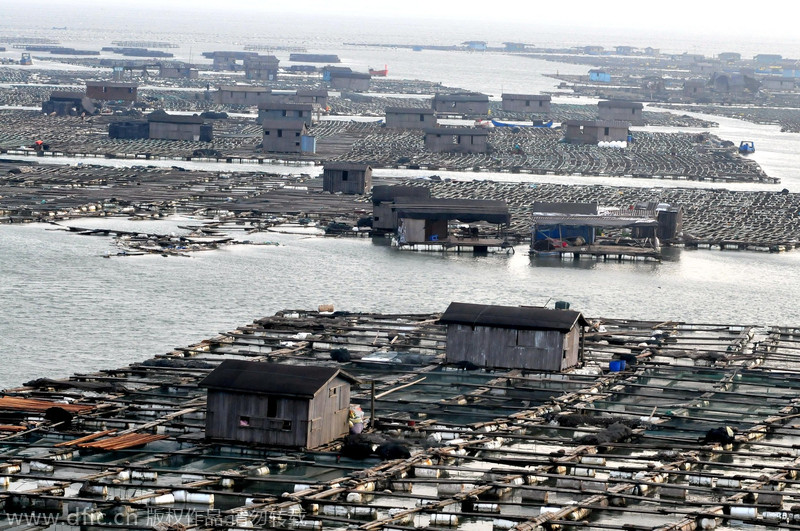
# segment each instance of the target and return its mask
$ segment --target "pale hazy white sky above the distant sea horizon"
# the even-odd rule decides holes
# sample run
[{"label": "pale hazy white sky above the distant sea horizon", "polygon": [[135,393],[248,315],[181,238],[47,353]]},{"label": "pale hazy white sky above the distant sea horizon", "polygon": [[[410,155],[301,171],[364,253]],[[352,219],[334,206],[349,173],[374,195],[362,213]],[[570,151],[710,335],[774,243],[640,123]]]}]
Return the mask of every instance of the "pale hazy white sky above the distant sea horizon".
[{"label": "pale hazy white sky above the distant sea horizon", "polygon": [[[121,0],[87,0],[111,8],[114,4],[130,7]],[[17,0],[0,0],[17,3]],[[19,2],[31,8],[35,4]],[[84,2],[48,0],[47,6],[71,6]],[[653,28],[677,32],[737,33],[750,38],[763,35],[796,33],[794,9],[788,2],[745,2],[670,0],[665,2],[620,0],[570,0],[568,2],[532,0],[137,0],[136,6],[205,10],[219,8],[260,12],[301,12],[320,15],[354,15],[368,17],[436,18],[442,22],[470,19],[497,25],[530,23],[558,26]],[[788,11],[787,11],[788,9]],[[0,9],[0,11],[2,11]]]}]

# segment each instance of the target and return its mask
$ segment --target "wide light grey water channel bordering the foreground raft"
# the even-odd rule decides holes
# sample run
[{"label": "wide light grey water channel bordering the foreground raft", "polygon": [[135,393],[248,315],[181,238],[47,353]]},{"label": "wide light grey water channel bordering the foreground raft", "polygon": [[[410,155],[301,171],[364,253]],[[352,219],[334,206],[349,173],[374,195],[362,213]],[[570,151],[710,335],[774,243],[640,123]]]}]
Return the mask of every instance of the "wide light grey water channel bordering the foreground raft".
[{"label": "wide light grey water channel bordering the foreground raft", "polygon": [[[186,222],[71,224],[180,232]],[[475,257],[398,251],[368,238],[260,233],[255,237],[281,245],[105,259],[115,250],[110,238],[51,229],[0,227],[0,388],[118,367],[281,309],[329,303],[353,311],[438,312],[451,301],[552,299],[591,316],[798,322],[798,252],[676,250],[660,264],[562,262],[531,259],[526,246],[513,255]]]}]

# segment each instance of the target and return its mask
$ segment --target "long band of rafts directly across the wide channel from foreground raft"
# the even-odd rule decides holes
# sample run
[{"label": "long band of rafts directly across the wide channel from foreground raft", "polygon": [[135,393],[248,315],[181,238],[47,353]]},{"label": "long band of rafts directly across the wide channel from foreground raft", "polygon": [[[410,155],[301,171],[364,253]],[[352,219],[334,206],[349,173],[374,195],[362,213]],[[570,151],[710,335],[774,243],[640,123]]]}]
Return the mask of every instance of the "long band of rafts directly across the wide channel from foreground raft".
[{"label": "long band of rafts directly across the wide channel from foreground raft", "polygon": [[[355,227],[372,213],[368,196],[324,193],[322,179],[307,174],[3,162],[0,171],[10,172],[0,183],[0,223],[86,216],[151,219],[180,213],[250,224],[251,228],[301,220],[312,220],[318,226],[346,222]],[[31,186],[33,182],[36,186]],[[511,213],[506,234],[517,242],[530,239],[530,205],[536,201],[598,203],[627,210],[655,200],[684,209],[683,238],[662,243],[763,252],[800,245],[800,194],[796,193],[692,188],[660,188],[654,192],[622,186],[386,177],[376,177],[374,182],[424,186],[436,198],[505,201]]]}]

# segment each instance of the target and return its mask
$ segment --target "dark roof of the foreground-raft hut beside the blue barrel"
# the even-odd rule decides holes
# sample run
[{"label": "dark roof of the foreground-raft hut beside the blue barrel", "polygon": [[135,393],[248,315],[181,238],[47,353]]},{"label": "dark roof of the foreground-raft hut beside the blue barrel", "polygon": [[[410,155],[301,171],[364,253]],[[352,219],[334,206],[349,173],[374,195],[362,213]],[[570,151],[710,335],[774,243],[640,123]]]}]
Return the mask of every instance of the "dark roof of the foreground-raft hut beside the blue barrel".
[{"label": "dark roof of the foreground-raft hut beside the blue barrel", "polygon": [[576,323],[582,326],[588,324],[580,312],[572,310],[463,302],[450,303],[450,306],[439,318],[439,322],[527,330],[558,330],[560,332],[568,332]]}]

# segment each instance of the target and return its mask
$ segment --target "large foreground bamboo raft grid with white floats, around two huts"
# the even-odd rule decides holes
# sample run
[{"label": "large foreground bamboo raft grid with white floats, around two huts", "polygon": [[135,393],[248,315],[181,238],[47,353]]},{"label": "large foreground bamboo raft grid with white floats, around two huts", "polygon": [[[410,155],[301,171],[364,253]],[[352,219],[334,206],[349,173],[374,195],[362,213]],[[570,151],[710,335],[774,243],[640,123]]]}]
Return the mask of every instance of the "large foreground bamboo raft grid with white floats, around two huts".
[{"label": "large foreground bamboo raft grid with white floats, around two huts", "polygon": [[[16,428],[0,434],[0,505],[29,524],[125,529],[800,522],[800,329],[595,319],[583,367],[487,372],[443,363],[437,317],[284,311],[142,363],[7,390],[0,413]],[[351,361],[332,361],[337,348]],[[363,360],[376,351],[415,358]],[[411,457],[205,439],[197,383],[232,358],[339,365],[371,382],[351,401],[372,436]],[[619,358],[636,363],[610,371]],[[66,402],[68,426],[43,420],[44,405]],[[610,436],[612,425],[625,428]],[[733,444],[700,442],[719,426],[738,429]]]}]

